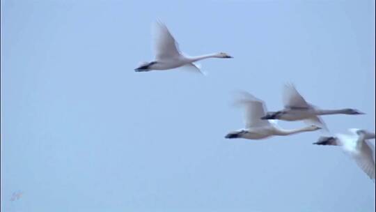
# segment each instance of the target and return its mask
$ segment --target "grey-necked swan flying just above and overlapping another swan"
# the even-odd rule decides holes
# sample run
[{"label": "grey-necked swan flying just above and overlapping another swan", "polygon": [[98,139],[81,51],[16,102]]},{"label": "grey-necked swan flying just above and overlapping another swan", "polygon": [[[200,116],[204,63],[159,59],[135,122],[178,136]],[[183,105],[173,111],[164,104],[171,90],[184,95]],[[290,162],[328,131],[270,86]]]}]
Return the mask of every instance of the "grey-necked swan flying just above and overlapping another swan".
[{"label": "grey-necked swan flying just above and overlapping another swan", "polygon": [[284,109],[277,112],[267,112],[261,119],[280,119],[284,121],[298,121],[303,120],[308,123],[313,123],[322,128],[327,128],[324,122],[320,119],[320,115],[329,114],[363,114],[357,109],[318,109],[317,107],[307,103],[303,96],[295,89],[292,84],[285,84],[282,93]]}]

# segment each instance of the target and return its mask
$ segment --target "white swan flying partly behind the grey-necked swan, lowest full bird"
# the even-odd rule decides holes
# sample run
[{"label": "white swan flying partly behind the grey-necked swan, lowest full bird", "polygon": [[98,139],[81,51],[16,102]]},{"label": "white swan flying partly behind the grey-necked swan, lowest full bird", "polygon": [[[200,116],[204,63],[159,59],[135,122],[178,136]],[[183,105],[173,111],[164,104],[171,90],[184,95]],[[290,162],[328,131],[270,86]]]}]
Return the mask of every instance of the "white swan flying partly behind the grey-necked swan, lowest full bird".
[{"label": "white swan flying partly behind the grey-necked swan, lowest full bird", "polygon": [[294,130],[284,130],[276,123],[260,119],[265,116],[266,107],[263,100],[258,100],[250,93],[242,92],[242,99],[237,100],[237,105],[244,106],[246,128],[228,133],[226,138],[264,139],[273,135],[292,135],[299,132],[320,130],[318,126],[306,126]]}]

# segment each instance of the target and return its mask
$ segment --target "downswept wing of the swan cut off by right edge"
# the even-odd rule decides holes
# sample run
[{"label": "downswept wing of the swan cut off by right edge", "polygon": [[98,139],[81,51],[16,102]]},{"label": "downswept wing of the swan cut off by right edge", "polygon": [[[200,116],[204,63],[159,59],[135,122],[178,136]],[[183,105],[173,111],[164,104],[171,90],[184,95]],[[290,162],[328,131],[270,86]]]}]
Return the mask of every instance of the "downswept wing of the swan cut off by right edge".
[{"label": "downswept wing of the swan cut off by right edge", "polygon": [[373,160],[373,151],[370,146],[368,146],[367,142],[363,141],[360,153],[353,154],[353,158],[359,167],[361,167],[363,172],[366,172],[370,179],[375,179],[375,161]]}]

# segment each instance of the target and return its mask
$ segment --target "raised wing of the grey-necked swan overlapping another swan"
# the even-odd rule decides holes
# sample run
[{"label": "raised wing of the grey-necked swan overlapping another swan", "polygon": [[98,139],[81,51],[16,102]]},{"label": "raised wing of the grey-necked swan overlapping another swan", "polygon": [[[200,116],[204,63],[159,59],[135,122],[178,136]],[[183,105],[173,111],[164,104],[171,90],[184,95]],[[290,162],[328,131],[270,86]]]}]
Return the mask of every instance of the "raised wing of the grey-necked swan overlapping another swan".
[{"label": "raised wing of the grey-necked swan overlapping another swan", "polygon": [[293,84],[283,86],[282,101],[285,108],[309,108],[310,105],[304,100],[303,96],[295,89]]}]

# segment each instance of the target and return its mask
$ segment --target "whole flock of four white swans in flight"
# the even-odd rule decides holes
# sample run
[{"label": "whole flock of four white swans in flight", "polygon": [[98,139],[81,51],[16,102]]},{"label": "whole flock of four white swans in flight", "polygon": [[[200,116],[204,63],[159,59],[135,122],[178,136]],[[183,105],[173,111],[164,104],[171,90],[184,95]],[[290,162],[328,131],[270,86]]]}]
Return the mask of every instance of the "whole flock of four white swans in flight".
[{"label": "whole flock of four white swans in flight", "polygon": [[[169,70],[183,67],[197,73],[203,73],[196,61],[208,58],[230,59],[232,56],[224,53],[205,54],[202,56],[185,56],[180,52],[178,43],[169,32],[169,29],[162,23],[155,24],[155,60],[144,62],[136,72],[146,72],[151,70]],[[300,132],[310,132],[315,130],[327,130],[324,121],[320,119],[322,115],[329,114],[363,114],[357,109],[319,109],[307,103],[303,96],[292,84],[285,84],[283,88],[284,108],[277,112],[268,112],[263,100],[252,96],[250,93],[242,91],[241,97],[235,102],[236,105],[244,107],[245,128],[229,132],[227,139],[265,139],[272,136],[292,135]],[[283,121],[304,121],[310,123],[303,128],[282,129],[276,120]],[[334,137],[320,137],[317,145],[341,146],[343,151],[348,153],[363,169],[370,179],[375,180],[375,161],[373,160],[373,150],[368,144],[368,139],[375,139],[374,132],[361,129],[349,129],[350,134],[337,134]]]}]

